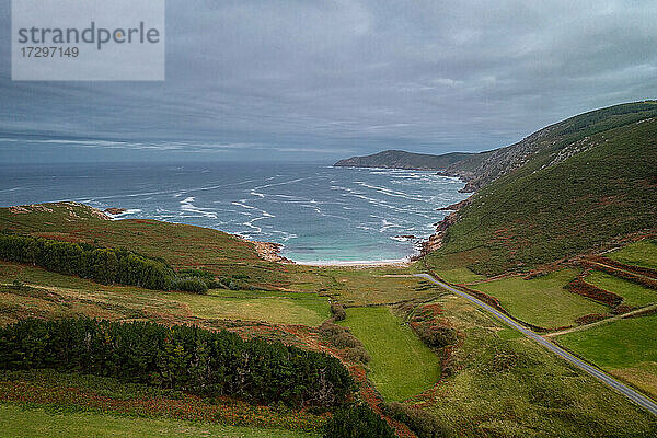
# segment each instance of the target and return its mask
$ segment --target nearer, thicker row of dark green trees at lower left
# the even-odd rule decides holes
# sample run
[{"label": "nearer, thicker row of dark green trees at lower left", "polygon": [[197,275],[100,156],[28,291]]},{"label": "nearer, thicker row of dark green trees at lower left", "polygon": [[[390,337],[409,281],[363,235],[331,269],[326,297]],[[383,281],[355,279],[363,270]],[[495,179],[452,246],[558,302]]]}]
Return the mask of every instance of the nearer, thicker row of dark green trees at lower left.
[{"label": "nearer, thicker row of dark green trees at lower left", "polygon": [[0,368],[77,371],[295,407],[342,405],[355,389],[336,358],[280,342],[89,318],[28,319],[1,327]]}]

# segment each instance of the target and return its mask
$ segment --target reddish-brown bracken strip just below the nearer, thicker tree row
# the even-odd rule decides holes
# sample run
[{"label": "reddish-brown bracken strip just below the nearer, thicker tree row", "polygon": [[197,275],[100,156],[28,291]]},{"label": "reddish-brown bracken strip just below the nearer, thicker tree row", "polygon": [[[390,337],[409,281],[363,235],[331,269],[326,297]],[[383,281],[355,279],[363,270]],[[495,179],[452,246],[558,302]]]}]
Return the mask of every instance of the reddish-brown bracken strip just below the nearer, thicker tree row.
[{"label": "reddish-brown bracken strip just below the nearer, thicker tree row", "polygon": [[[108,377],[54,370],[0,370],[0,403],[2,402],[43,406],[59,413],[88,412],[132,418],[193,420],[200,426],[204,425],[200,422],[212,422],[224,426],[316,433],[325,422],[325,416],[309,412],[257,406],[230,397],[204,399],[182,391],[126,383]],[[180,425],[192,426],[193,423]],[[173,423],[171,426],[175,427]],[[222,429],[216,426],[212,428]],[[230,433],[232,428],[224,429]],[[249,429],[244,428],[244,431]]]}]

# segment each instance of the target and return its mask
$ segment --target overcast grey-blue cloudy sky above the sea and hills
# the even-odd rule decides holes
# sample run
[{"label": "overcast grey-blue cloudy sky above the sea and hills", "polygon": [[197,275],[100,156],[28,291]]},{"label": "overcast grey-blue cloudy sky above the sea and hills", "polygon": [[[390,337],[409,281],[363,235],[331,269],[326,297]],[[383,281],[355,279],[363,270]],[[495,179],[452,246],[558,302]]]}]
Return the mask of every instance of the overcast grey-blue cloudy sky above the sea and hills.
[{"label": "overcast grey-blue cloudy sky above the sea and hills", "polygon": [[[657,1],[168,0],[164,82],[12,82],[0,159],[302,159],[481,151],[657,97]],[[104,142],[87,141],[103,139]]]}]

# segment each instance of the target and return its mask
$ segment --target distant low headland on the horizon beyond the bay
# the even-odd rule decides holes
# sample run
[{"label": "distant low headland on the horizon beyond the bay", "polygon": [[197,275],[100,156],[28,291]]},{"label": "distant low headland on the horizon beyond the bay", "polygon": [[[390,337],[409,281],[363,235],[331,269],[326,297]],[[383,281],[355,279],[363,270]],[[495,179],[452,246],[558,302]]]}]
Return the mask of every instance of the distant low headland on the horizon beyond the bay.
[{"label": "distant low headland on the horizon beyond the bay", "polygon": [[383,168],[445,171],[448,166],[477,153],[451,152],[442,155],[387,150],[367,157],[351,157],[335,163],[338,168]]}]

